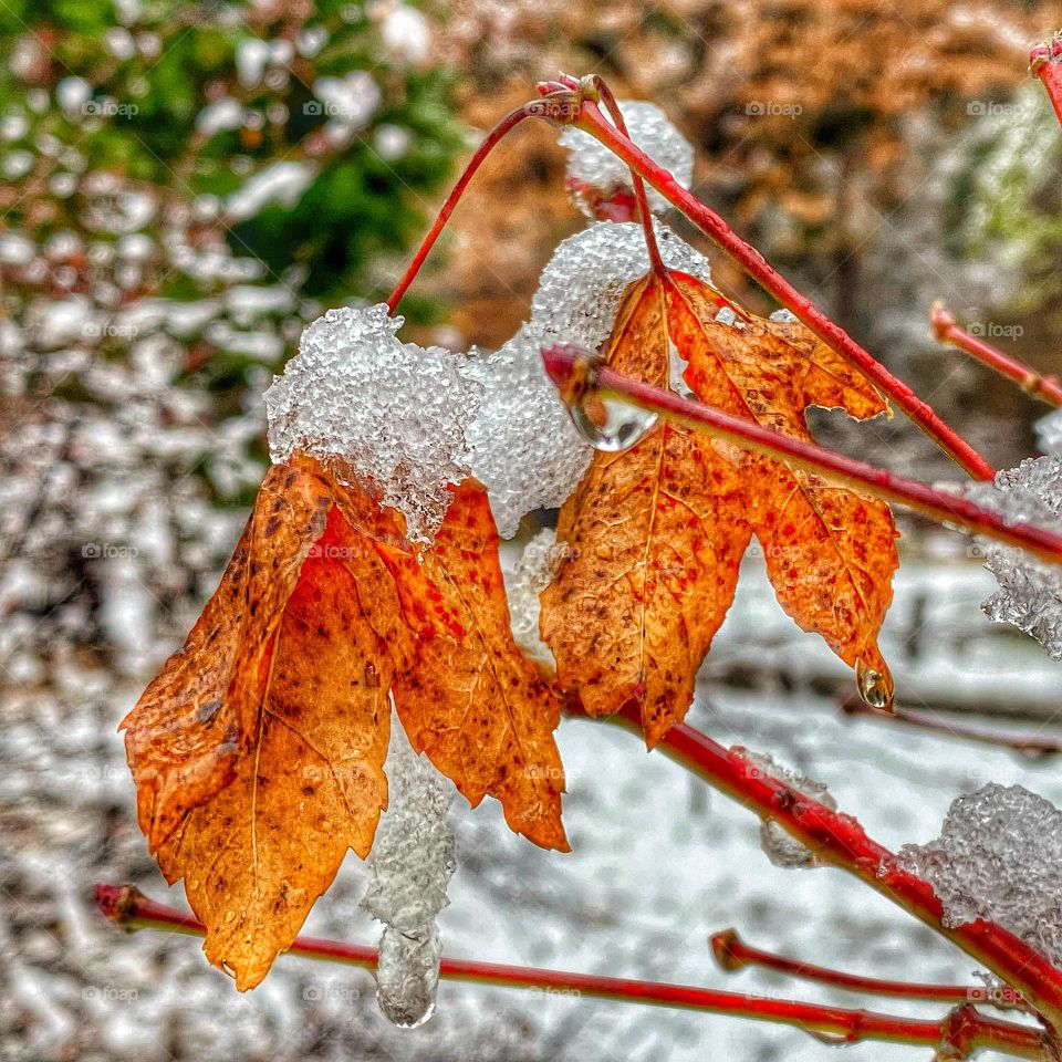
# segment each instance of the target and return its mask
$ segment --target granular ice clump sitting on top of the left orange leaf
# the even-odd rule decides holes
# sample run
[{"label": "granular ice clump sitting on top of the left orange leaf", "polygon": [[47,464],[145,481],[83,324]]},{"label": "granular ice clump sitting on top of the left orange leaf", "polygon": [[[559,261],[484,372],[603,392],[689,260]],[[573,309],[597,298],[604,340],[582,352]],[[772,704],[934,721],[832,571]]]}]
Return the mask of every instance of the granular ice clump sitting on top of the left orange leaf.
[{"label": "granular ice clump sitting on top of the left orange leaf", "polygon": [[469,473],[466,427],[482,388],[464,355],[402,343],[384,304],[330,310],[266,392],[274,462],[296,450],[340,458],[406,518],[412,540],[438,530],[448,483]]}]

